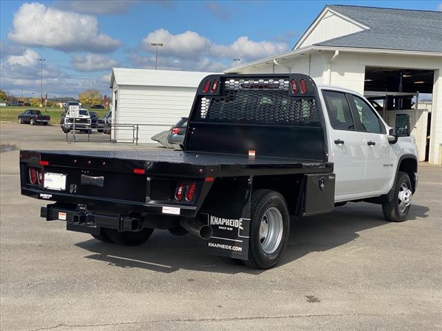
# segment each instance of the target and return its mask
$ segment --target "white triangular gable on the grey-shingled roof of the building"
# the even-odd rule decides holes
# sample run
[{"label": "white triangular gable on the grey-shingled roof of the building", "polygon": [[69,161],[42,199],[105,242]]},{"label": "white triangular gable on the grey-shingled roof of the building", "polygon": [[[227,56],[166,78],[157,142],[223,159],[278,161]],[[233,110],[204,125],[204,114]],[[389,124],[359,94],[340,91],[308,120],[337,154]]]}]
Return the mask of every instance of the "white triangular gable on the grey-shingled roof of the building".
[{"label": "white triangular gable on the grey-shingled roof of the building", "polygon": [[362,31],[363,29],[356,24],[339,17],[333,12],[327,12],[318,25],[311,31],[308,37],[302,41],[296,48],[313,45],[321,41],[342,37],[347,34]]}]

